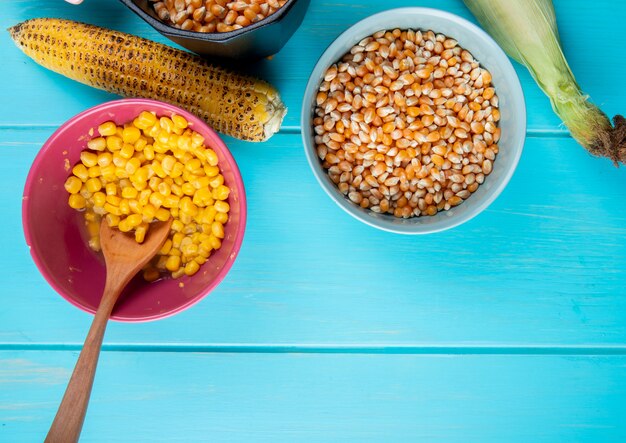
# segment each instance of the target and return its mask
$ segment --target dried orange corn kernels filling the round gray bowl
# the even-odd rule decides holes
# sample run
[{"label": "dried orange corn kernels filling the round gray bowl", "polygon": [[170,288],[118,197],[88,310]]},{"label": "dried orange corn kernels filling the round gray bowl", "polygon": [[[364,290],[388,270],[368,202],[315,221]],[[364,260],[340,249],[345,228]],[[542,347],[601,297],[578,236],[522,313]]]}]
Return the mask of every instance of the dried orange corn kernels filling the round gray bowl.
[{"label": "dried orange corn kernels filling the round gray bowl", "polygon": [[500,139],[491,74],[432,31],[380,31],[325,73],[313,119],[317,154],[352,202],[396,217],[468,198]]}]

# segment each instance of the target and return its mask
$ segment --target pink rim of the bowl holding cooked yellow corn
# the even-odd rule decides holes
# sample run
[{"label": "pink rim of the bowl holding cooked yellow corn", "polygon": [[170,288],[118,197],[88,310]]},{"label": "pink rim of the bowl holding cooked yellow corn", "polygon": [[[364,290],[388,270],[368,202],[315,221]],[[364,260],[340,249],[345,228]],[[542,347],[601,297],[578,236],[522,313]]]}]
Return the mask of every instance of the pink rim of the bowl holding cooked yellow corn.
[{"label": "pink rim of the bowl holding cooked yellow corn", "polygon": [[191,114],[190,112],[182,108],[179,108],[178,106],[171,105],[169,103],[161,102],[158,100],[143,99],[143,98],[124,98],[124,99],[118,99],[118,100],[111,100],[111,101],[93,106],[91,108],[88,108],[74,115],[73,117],[65,121],[63,124],[61,124],[54,131],[54,133],[45,141],[45,143],[42,145],[41,149],[35,156],[35,159],[33,160],[30,166],[28,175],[26,177],[26,182],[24,184],[24,189],[22,192],[22,230],[24,233],[24,239],[26,241],[26,245],[28,246],[30,256],[32,257],[34,261],[35,266],[39,270],[39,273],[44,277],[46,282],[59,295],[61,295],[61,297],[63,297],[66,301],[68,301],[69,303],[76,306],[82,311],[85,311],[89,314],[96,313],[94,309],[82,304],[74,297],[71,297],[69,294],[66,293],[66,291],[63,290],[63,288],[61,288],[59,285],[56,284],[52,276],[49,275],[49,273],[45,269],[43,259],[39,257],[36,251],[34,251],[34,249],[32,248],[32,233],[31,233],[30,224],[27,222],[27,220],[29,219],[29,214],[30,214],[28,200],[32,192],[32,187],[36,181],[35,171],[39,170],[40,165],[43,162],[45,162],[45,159],[47,157],[47,152],[50,149],[52,149],[52,146],[57,142],[57,140],[61,138],[64,135],[65,131],[68,128],[70,128],[73,124],[75,124],[77,121],[88,118],[93,114],[101,113],[102,111],[110,111],[114,113],[115,110],[120,106],[135,106],[135,105],[145,106],[146,107],[145,110],[148,110],[148,111],[154,110],[157,112],[157,114],[159,112],[173,112],[173,113],[182,115],[188,122],[192,123],[193,125],[204,126],[204,129],[208,130],[209,133],[212,133],[214,135],[212,142],[217,142],[220,145],[220,148],[222,148],[224,152],[224,156],[228,159],[228,163],[231,165],[232,172],[235,175],[234,185],[238,188],[238,191],[240,194],[239,206],[240,206],[241,213],[239,216],[239,223],[237,224],[237,228],[235,231],[237,237],[235,238],[235,241],[233,244],[233,252],[229,254],[228,259],[226,260],[224,266],[222,267],[220,272],[211,281],[209,285],[207,285],[196,297],[190,298],[185,303],[167,312],[146,315],[143,317],[127,317],[127,316],[121,316],[118,313],[118,314],[111,315],[110,317],[111,320],[125,322],[125,323],[144,323],[144,322],[168,318],[168,317],[178,314],[179,312],[189,309],[190,307],[192,307],[193,305],[195,305],[196,303],[204,299],[207,295],[209,295],[222,282],[222,280],[224,280],[224,278],[226,277],[226,274],[228,274],[237,256],[239,255],[239,251],[241,249],[241,245],[243,243],[243,238],[244,238],[244,234],[246,230],[247,212],[248,212],[243,177],[241,176],[241,172],[239,170],[239,166],[237,165],[237,162],[235,161],[235,158],[233,157],[232,153],[230,152],[230,149],[228,149],[228,146],[226,146],[226,143],[224,143],[224,141],[219,136],[219,134],[213,128],[211,128],[207,123],[202,121],[200,118],[196,117],[195,115]]}]

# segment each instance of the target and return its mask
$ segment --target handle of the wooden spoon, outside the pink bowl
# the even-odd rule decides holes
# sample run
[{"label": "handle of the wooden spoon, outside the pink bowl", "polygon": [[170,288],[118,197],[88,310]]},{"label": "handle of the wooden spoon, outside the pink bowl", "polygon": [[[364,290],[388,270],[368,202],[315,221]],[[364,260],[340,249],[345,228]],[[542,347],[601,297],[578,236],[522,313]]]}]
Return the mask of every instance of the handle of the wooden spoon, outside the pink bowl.
[{"label": "handle of the wooden spoon, outside the pink bowl", "polygon": [[113,306],[121,292],[120,288],[111,287],[108,283],[107,279],[100,306],[91,323],[85,344],[74,367],[70,382],[65,389],[63,400],[59,405],[52,426],[50,426],[45,443],[73,443],[77,442],[80,436],[96,374],[104,331],[113,311]]}]

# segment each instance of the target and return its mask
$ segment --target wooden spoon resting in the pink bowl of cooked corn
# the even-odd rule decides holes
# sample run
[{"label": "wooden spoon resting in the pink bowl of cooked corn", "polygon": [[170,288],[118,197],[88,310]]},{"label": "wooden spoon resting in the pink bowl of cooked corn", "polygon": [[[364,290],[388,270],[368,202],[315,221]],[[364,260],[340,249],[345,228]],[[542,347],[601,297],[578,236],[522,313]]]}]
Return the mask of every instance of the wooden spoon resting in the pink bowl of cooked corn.
[{"label": "wooden spoon resting in the pink bowl of cooked corn", "polygon": [[119,295],[134,275],[161,249],[170,233],[172,219],[150,225],[143,243],[134,237],[100,224],[100,245],[106,263],[106,283],[100,306],[91,323],[72,378],[48,431],[46,443],[77,442],[96,374],[98,356],[107,322]]}]

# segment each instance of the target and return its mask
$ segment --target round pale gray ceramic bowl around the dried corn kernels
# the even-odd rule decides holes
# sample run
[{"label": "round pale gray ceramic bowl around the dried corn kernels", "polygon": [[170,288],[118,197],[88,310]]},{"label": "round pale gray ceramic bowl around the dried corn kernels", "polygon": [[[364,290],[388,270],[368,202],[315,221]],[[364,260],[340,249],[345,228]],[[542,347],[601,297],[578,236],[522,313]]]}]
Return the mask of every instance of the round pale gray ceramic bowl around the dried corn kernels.
[{"label": "round pale gray ceramic bowl around the dried corn kernels", "polygon": [[[502,136],[500,152],[492,173],[478,190],[459,206],[434,216],[400,219],[377,214],[352,203],[330,180],[315,151],[312,117],[315,96],[326,69],[363,38],[384,29],[423,29],[456,39],[463,48],[491,72],[499,98]],[[324,51],[315,65],[302,104],[302,137],[307,160],[322,189],[348,214],[385,231],[401,234],[428,234],[457,226],[489,206],[509,182],[524,146],[526,108],[517,74],[506,54],[482,29],[461,17],[429,8],[400,8],[368,17],[349,28]]]}]

